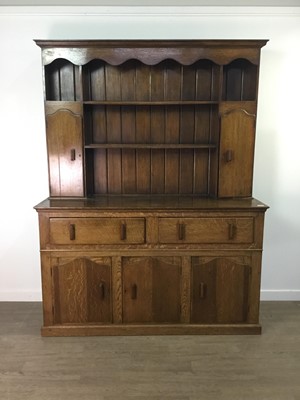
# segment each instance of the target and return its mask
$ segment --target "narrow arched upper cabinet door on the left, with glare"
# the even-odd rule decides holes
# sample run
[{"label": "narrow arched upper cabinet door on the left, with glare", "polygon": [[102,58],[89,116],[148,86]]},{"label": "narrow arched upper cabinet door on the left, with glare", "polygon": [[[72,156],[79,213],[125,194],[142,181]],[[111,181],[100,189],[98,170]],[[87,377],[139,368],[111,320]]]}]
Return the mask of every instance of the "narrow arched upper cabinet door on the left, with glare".
[{"label": "narrow arched upper cabinet door on the left, with glare", "polygon": [[50,196],[83,196],[82,116],[62,108],[46,125]]}]

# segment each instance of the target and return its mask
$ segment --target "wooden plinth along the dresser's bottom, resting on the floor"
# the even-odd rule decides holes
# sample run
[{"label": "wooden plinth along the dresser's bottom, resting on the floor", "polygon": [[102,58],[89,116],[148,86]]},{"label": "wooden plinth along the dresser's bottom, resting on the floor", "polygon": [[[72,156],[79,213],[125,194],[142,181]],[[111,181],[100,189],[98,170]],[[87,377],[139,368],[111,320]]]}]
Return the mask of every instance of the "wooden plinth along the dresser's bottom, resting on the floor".
[{"label": "wooden plinth along the dresser's bottom, resting on the floor", "polygon": [[134,336],[134,335],[260,335],[259,324],[168,324],[168,325],[53,325],[42,336]]}]

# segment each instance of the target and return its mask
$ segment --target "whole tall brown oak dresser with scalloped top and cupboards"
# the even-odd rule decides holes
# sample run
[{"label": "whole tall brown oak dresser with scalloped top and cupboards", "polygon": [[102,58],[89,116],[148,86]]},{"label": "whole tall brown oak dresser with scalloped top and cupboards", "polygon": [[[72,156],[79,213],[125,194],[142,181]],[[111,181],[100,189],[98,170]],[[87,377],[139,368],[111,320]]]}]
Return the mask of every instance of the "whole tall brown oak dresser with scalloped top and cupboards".
[{"label": "whole tall brown oak dresser with scalloped top and cupboards", "polygon": [[258,334],[266,40],[37,40],[42,335]]}]

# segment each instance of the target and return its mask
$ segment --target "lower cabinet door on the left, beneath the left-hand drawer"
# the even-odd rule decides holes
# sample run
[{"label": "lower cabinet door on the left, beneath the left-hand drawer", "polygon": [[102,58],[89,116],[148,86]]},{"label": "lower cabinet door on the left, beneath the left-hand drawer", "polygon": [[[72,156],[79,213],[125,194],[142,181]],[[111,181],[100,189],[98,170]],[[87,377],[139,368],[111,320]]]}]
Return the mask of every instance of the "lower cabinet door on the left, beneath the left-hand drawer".
[{"label": "lower cabinet door on the left, beneath the left-hand drawer", "polygon": [[111,322],[111,259],[52,259],[54,323]]}]

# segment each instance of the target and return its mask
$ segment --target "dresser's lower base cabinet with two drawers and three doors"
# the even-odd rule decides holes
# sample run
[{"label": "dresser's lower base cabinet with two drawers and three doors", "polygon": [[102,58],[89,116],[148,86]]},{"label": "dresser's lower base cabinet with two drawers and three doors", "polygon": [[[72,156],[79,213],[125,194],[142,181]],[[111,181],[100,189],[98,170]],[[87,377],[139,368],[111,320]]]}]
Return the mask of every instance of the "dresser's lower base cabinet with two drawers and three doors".
[{"label": "dresser's lower base cabinet with two drawers and three doors", "polygon": [[260,333],[264,204],[119,200],[36,207],[43,335]]}]

